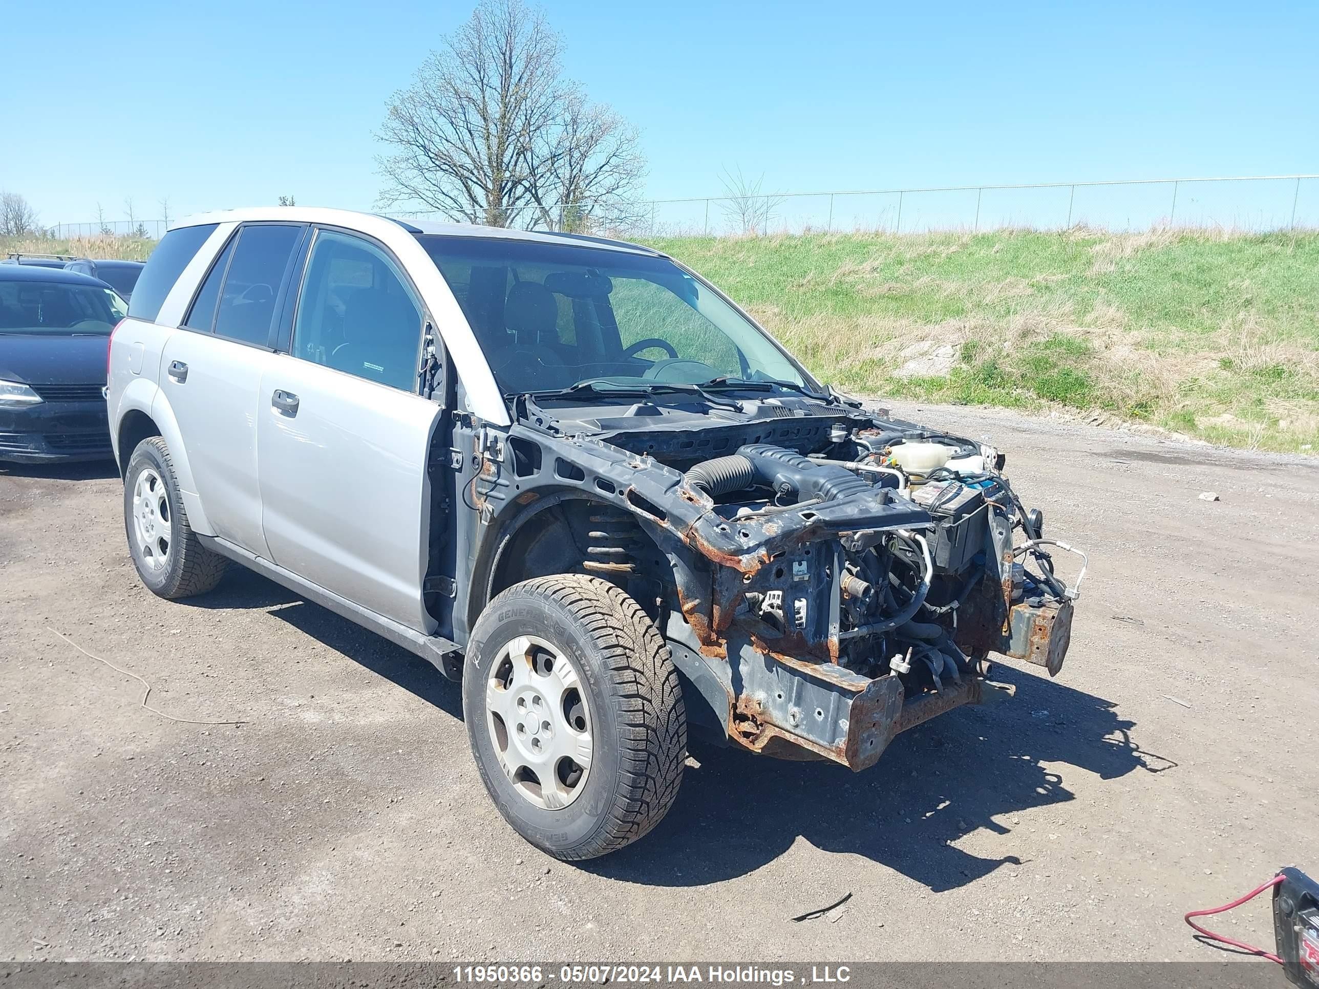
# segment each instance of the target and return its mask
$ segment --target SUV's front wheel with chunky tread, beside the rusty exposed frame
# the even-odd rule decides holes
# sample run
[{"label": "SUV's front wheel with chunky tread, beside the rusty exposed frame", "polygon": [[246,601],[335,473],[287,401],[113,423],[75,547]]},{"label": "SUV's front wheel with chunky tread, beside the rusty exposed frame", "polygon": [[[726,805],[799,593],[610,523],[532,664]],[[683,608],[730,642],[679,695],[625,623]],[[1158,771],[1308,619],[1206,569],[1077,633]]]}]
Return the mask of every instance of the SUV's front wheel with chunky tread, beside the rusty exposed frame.
[{"label": "SUV's front wheel with chunky tread, beside the rusty exposed frame", "polygon": [[[533,671],[543,658],[557,659],[553,675],[578,686],[579,700],[588,708],[575,708],[575,724],[588,727],[591,749],[588,769],[575,777],[580,790],[561,785],[568,795],[554,796],[549,806],[538,785],[514,778],[518,760],[508,754],[513,752],[508,746],[514,745],[506,741],[510,734],[526,741],[522,729],[538,732],[542,724],[536,716],[524,725],[521,711],[529,709],[518,708],[524,696],[500,698],[505,683],[500,670],[509,670],[510,657],[522,654],[530,657]],[[512,684],[512,674],[509,678]],[[528,696],[539,704],[536,675],[524,682],[532,691]],[[551,694],[545,695],[549,707],[555,704]],[[508,724],[492,719],[496,708],[508,716]],[[491,601],[467,647],[463,716],[481,781],[500,814],[522,837],[557,858],[594,858],[636,841],[669,812],[682,782],[687,720],[669,647],[632,597],[598,578],[537,578]],[[547,716],[546,744],[558,744],[551,736],[571,729],[571,721],[561,725]],[[533,738],[532,744],[539,742]],[[580,771],[580,766],[568,757],[563,762],[570,766],[565,778],[571,781],[571,769]],[[568,803],[558,806],[565,799]]]}]

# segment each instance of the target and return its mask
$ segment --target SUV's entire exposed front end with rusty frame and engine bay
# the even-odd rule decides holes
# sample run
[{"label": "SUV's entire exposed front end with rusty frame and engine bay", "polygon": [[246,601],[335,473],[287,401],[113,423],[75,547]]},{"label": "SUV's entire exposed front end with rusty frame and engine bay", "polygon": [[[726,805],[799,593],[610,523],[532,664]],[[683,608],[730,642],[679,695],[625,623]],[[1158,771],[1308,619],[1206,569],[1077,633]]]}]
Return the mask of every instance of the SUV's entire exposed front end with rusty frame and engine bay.
[{"label": "SUV's entire exposed front end with rusty frame and engine bay", "polygon": [[[1066,655],[1084,554],[1045,535],[987,444],[789,396],[526,402],[512,451],[481,443],[484,514],[550,509],[496,587],[565,568],[617,583],[744,748],[861,769],[977,703],[992,653],[1051,675]],[[1071,587],[1059,550],[1083,560]]]}]

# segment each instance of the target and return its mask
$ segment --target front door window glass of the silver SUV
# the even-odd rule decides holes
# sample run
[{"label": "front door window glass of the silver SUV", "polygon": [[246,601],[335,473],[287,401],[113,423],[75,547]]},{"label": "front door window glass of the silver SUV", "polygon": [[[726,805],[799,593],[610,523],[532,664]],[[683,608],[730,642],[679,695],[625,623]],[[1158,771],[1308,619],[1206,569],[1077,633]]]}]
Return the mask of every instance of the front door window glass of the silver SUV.
[{"label": "front door window glass of the silver SUV", "polygon": [[293,324],[293,356],[417,390],[421,305],[384,251],[321,231],[311,247]]}]

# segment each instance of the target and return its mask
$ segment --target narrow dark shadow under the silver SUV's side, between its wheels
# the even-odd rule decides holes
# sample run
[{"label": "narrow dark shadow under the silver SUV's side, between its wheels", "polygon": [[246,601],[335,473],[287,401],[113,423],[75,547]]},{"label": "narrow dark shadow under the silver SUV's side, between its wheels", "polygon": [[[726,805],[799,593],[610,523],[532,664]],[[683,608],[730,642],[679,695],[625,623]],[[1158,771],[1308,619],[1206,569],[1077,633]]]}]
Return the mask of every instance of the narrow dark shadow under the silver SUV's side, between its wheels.
[{"label": "narrow dark shadow under the silver SUV's side, between its wheels", "polygon": [[255,571],[233,566],[214,591],[185,599],[179,604],[195,608],[266,611],[446,715],[463,719],[463,700],[458,684],[445,679],[429,662],[319,604],[303,600],[295,592]]}]

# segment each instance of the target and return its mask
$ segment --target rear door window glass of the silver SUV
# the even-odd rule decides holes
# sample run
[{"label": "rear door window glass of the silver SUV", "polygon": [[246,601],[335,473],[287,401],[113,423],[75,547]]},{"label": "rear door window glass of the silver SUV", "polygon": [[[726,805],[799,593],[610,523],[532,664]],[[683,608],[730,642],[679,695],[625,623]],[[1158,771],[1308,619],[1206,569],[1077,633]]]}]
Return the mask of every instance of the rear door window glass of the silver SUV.
[{"label": "rear door window glass of the silver SUV", "polygon": [[220,290],[220,306],[215,314],[216,336],[261,347],[269,343],[274,297],[301,235],[301,227],[256,225],[241,229]]}]

